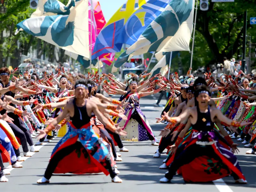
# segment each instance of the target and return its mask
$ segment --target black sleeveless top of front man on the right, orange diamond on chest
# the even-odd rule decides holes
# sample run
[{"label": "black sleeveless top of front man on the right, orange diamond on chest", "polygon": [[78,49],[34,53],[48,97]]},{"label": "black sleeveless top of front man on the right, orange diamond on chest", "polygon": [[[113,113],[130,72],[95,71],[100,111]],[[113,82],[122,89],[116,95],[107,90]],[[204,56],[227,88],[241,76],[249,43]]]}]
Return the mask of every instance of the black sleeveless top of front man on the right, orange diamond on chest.
[{"label": "black sleeveless top of front man on the right, orange diamond on chest", "polygon": [[192,128],[197,131],[211,131],[214,123],[211,119],[210,106],[208,105],[208,111],[206,113],[201,113],[198,106],[196,108],[197,121],[196,124],[192,124]]}]

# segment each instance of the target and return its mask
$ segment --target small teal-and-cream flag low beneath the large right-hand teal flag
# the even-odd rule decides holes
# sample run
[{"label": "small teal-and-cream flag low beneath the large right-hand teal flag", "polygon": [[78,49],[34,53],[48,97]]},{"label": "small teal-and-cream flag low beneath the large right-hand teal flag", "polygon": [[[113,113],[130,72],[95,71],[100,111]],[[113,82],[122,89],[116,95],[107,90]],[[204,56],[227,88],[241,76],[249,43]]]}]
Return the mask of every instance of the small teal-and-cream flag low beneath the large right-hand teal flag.
[{"label": "small teal-and-cream flag low beneath the large right-hand teal flag", "polygon": [[[172,52],[172,59],[177,55],[177,53],[178,51]],[[164,76],[168,72],[171,52],[161,52],[161,54],[163,55],[163,57],[158,61],[158,63],[150,71],[151,76],[155,76],[158,73],[161,73],[161,75]]]}]

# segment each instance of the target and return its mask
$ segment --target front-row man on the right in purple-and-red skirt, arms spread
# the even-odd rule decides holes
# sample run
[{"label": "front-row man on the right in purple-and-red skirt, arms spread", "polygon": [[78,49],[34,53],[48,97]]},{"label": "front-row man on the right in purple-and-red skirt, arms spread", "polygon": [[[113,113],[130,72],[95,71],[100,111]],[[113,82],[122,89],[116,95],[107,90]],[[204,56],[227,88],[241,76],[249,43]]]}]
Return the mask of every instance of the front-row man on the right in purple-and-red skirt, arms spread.
[{"label": "front-row man on the right in purple-and-red skirt, arms spread", "polygon": [[[187,130],[183,130],[175,144],[171,146],[172,153],[175,153],[173,162],[169,168],[169,172],[165,174],[165,177],[160,179],[160,182],[170,182],[172,177],[176,174],[176,171],[180,168],[182,172],[183,179],[190,182],[208,182],[216,179],[223,178],[231,174],[236,182],[247,183],[241,168],[237,162],[236,156],[230,151],[237,150],[237,144],[228,136],[227,132],[220,127],[220,132],[225,136],[223,139],[217,132],[213,131],[213,123],[216,119],[232,125],[232,126],[244,126],[249,123],[238,123],[232,121],[222,115],[221,111],[210,107],[208,102],[210,101],[210,92],[205,86],[201,86],[195,92],[196,106],[193,108],[187,108],[184,113],[178,117],[168,117],[165,114],[167,121],[172,124],[180,123],[186,119],[190,119],[193,127],[192,138],[188,142],[181,144],[183,137]],[[201,166],[199,163],[197,168],[193,169],[194,160],[198,160],[199,157],[204,157],[207,159],[214,159],[214,167],[206,163],[206,167]],[[202,158],[199,160],[203,161]],[[218,167],[218,172],[213,169]],[[205,172],[205,169],[209,167],[209,170]],[[186,169],[187,168],[187,169]],[[191,171],[194,171],[191,174]]]}]

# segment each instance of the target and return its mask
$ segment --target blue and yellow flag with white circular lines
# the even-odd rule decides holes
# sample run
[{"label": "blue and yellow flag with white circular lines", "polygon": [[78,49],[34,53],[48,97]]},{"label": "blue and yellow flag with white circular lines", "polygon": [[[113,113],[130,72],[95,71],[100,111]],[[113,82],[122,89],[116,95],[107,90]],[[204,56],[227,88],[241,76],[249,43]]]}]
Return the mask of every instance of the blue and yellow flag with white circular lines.
[{"label": "blue and yellow flag with white circular lines", "polygon": [[103,53],[120,52],[134,44],[148,25],[164,11],[170,0],[128,0],[100,31],[92,59]]}]

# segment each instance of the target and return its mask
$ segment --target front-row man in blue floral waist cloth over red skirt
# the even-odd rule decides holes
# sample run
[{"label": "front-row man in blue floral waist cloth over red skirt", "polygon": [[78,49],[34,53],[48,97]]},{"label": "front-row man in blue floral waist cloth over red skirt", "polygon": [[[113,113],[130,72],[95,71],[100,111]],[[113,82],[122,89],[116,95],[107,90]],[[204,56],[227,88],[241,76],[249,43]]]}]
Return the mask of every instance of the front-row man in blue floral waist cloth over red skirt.
[{"label": "front-row man in blue floral waist cloth over red skirt", "polygon": [[[92,130],[90,119],[92,112],[111,131],[125,135],[123,130],[116,129],[108,119],[99,111],[97,106],[90,100],[85,99],[88,94],[87,81],[80,79],[75,84],[75,98],[68,100],[67,106],[56,118],[50,120],[45,130],[40,130],[38,138],[43,138],[48,132],[55,129],[55,126],[68,115],[71,120],[71,128],[53,149],[51,160],[47,166],[44,177],[37,183],[49,183],[52,173],[88,173],[104,172],[110,173],[112,182],[122,182],[116,176],[115,166],[106,146],[99,140],[99,137]],[[81,113],[85,111],[86,113]],[[75,151],[79,150],[83,155],[77,156]],[[88,164],[90,158],[90,164]],[[72,159],[72,160],[71,160]],[[67,163],[72,161],[72,166]]]}]

